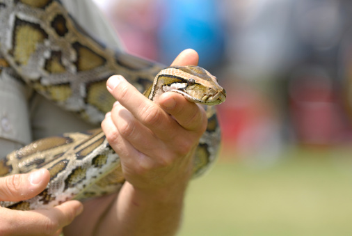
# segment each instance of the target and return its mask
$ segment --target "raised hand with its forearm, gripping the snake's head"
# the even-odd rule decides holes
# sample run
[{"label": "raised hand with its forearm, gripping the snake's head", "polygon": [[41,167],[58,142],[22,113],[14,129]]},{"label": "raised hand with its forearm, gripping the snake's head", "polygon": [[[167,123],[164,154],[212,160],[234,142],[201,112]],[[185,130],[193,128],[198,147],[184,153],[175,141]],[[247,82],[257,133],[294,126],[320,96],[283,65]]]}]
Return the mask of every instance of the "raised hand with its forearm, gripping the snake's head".
[{"label": "raised hand with its forearm, gripping the snake's head", "polygon": [[[197,64],[192,49],[173,62]],[[83,203],[83,213],[64,228],[65,236],[175,235],[193,154],[207,126],[205,110],[177,93],[151,102],[120,76],[109,79],[108,90],[118,102],[102,129],[120,155],[127,182],[120,194]]]}]

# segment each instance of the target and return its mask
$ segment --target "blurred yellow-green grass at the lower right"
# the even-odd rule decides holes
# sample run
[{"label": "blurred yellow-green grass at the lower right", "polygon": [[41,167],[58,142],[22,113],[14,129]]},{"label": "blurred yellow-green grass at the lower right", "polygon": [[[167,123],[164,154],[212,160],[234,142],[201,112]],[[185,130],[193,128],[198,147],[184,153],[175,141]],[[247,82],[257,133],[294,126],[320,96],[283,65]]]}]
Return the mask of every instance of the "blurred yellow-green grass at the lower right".
[{"label": "blurred yellow-green grass at the lower right", "polygon": [[179,236],[352,235],[352,150],[221,159],[191,182]]}]

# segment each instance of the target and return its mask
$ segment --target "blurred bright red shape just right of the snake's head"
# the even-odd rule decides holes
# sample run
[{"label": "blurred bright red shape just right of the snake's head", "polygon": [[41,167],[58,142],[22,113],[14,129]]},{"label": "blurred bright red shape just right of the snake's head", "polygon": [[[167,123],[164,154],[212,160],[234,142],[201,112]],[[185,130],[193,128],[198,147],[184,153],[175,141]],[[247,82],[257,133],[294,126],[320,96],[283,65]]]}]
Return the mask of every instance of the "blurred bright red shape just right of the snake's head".
[{"label": "blurred bright red shape just right of the snake's head", "polygon": [[223,151],[247,157],[277,148],[280,124],[270,100],[245,83],[224,87],[226,101],[217,106]]}]

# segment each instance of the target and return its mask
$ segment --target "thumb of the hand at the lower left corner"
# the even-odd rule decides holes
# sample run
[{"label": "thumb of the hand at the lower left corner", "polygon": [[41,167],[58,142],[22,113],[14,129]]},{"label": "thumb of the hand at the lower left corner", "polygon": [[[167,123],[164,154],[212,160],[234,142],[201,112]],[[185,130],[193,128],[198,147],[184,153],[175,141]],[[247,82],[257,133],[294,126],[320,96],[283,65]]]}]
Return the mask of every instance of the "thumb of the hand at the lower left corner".
[{"label": "thumb of the hand at the lower left corner", "polygon": [[0,200],[15,202],[33,198],[47,187],[49,180],[50,174],[45,168],[31,173],[2,177],[0,178]]}]

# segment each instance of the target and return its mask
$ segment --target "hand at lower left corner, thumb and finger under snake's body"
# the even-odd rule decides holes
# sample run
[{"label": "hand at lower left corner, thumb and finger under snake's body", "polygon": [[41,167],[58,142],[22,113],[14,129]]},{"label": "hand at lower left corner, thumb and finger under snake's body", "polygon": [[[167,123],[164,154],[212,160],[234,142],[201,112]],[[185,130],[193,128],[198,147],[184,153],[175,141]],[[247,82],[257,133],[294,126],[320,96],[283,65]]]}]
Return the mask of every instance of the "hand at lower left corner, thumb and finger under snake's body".
[{"label": "hand at lower left corner, thumb and finger under snake's body", "polygon": [[[47,169],[0,178],[0,200],[19,201],[40,194],[47,187]],[[19,211],[0,207],[0,235],[60,235],[83,210],[77,200],[70,200],[49,210]]]}]

